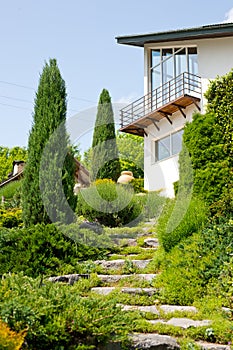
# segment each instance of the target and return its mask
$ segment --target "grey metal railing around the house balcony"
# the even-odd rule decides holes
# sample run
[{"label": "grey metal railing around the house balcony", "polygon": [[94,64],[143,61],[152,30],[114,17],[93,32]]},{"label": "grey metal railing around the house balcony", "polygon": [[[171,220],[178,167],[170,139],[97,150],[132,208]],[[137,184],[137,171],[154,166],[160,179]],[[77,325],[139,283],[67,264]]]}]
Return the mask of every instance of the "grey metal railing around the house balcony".
[{"label": "grey metal railing around the house balcony", "polygon": [[201,78],[182,73],[121,110],[121,128],[136,122],[182,96],[201,98]]}]

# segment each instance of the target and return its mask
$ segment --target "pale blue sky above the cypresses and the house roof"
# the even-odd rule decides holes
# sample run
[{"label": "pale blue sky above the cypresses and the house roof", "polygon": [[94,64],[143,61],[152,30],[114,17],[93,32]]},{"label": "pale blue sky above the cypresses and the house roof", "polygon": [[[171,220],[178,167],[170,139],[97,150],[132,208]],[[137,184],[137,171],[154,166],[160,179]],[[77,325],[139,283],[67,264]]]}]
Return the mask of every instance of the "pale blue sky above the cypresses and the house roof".
[{"label": "pale blue sky above the cypresses and the house roof", "polygon": [[27,147],[39,76],[50,58],[66,83],[71,141],[83,151],[103,88],[116,125],[118,109],[143,95],[143,49],[119,45],[116,36],[233,22],[232,0],[0,0],[0,6],[3,147]]}]

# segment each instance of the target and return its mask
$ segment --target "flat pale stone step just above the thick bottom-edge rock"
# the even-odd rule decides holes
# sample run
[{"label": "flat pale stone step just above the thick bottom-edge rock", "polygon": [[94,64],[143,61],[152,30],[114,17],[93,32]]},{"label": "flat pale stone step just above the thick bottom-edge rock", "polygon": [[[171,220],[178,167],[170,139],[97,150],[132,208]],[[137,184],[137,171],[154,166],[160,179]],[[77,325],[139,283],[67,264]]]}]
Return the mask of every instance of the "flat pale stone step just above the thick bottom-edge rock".
[{"label": "flat pale stone step just above the thick bottom-edge rock", "polygon": [[187,329],[190,327],[206,327],[209,326],[211,324],[210,320],[192,320],[190,318],[177,318],[177,317],[173,317],[171,318],[169,321],[165,321],[165,320],[148,320],[148,322],[150,324],[157,324],[157,323],[162,323],[162,324],[166,324],[169,326],[174,326],[174,327],[180,327],[183,329]]}]

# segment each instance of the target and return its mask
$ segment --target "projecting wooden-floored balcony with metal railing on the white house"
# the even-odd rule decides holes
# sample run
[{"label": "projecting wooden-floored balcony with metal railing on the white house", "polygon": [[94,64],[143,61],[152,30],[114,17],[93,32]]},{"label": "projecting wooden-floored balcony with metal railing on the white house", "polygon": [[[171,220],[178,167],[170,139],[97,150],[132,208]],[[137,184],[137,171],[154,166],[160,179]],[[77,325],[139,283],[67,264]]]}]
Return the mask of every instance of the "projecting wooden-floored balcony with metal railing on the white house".
[{"label": "projecting wooden-floored balcony with metal railing on the white house", "polygon": [[139,98],[121,110],[120,131],[138,136],[146,134],[145,129],[153,123],[159,130],[159,121],[180,111],[184,118],[185,108],[191,104],[200,110],[201,78],[190,73],[182,73],[149,94]]}]

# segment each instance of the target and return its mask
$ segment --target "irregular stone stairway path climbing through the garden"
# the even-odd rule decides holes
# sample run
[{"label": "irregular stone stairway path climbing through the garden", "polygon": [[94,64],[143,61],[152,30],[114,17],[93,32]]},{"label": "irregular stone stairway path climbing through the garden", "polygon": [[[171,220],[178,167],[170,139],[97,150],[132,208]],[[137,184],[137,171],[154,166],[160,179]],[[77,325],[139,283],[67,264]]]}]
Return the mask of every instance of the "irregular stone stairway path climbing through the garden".
[{"label": "irregular stone stairway path climbing through the garden", "polygon": [[[144,233],[140,233],[135,235],[134,238],[130,235],[129,238],[127,238],[127,243],[125,246],[128,247],[137,247],[137,239],[140,237],[144,238],[144,245],[143,247],[140,247],[139,251],[143,252],[149,252],[152,249],[155,251],[158,249],[159,242],[156,237],[151,237],[152,234],[150,231],[153,221],[150,221],[146,223],[143,231]],[[123,237],[125,240],[125,237]],[[119,245],[122,241],[122,235],[117,235],[114,238],[114,241],[117,242]],[[140,253],[138,253],[140,254]],[[132,281],[132,279],[135,278],[135,280],[146,281],[147,283],[151,283],[153,279],[156,278],[157,274],[153,273],[143,273],[143,270],[148,266],[148,264],[152,261],[152,259],[145,259],[145,260],[137,260],[136,258],[132,260],[132,256],[135,255],[137,257],[138,254],[130,254],[130,255],[122,255],[121,259],[115,259],[115,260],[97,260],[94,261],[94,264],[103,270],[104,273],[98,274],[99,280],[102,282],[103,286],[101,287],[93,287],[91,288],[92,293],[98,293],[101,295],[108,295],[114,291],[119,291],[121,294],[129,294],[129,295],[145,295],[148,297],[151,297],[153,295],[156,295],[158,293],[158,289],[156,288],[144,288],[144,287],[129,287],[128,282]],[[121,254],[117,254],[117,256],[120,256]],[[131,259],[130,259],[131,257]],[[109,256],[111,259],[111,256]],[[126,260],[126,259],[130,260]],[[124,268],[127,268],[127,264],[130,264],[130,267],[136,268],[137,273],[121,273],[121,271],[124,271]],[[132,265],[131,265],[132,264]],[[129,267],[129,266],[128,266]],[[114,270],[117,271],[116,274],[114,274]],[[138,271],[141,270],[141,273],[138,273]],[[67,282],[70,284],[73,284],[74,282],[78,281],[80,278],[90,278],[89,274],[72,274],[72,275],[63,275],[58,277],[50,277],[49,280],[51,282]],[[124,286],[125,282],[127,281],[127,285]],[[120,282],[121,287],[117,287],[116,284]],[[123,286],[122,286],[123,285]],[[138,284],[137,284],[138,285]],[[148,284],[149,285],[149,284]],[[139,311],[142,313],[142,315],[146,315],[147,313],[150,313],[152,315],[155,315],[157,319],[154,320],[146,320],[148,324],[151,325],[157,325],[157,324],[163,324],[163,325],[169,325],[174,327],[179,327],[181,329],[188,329],[190,327],[209,327],[211,326],[210,320],[196,320],[192,319],[192,315],[195,315],[198,310],[194,306],[178,306],[178,305],[124,305],[124,304],[118,304],[118,306],[121,307],[121,309],[125,312],[132,312],[132,311]],[[187,317],[171,317],[170,319],[166,319],[165,315],[172,315],[172,313],[185,313],[189,315],[189,318]],[[168,317],[169,317],[168,315]],[[144,316],[143,316],[144,317]],[[163,318],[164,317],[164,318]],[[132,350],[141,350],[141,349],[147,349],[147,350],[177,350],[180,349],[179,345],[179,338],[174,338],[168,335],[160,335],[155,333],[147,333],[147,334],[131,334],[130,339],[132,342],[132,345],[130,349]],[[212,344],[212,343],[206,343],[206,342],[196,342],[196,344],[203,350],[230,350],[229,345],[220,345],[220,344]],[[108,344],[106,347],[103,348],[103,350],[121,350],[120,344],[112,343]]]}]

